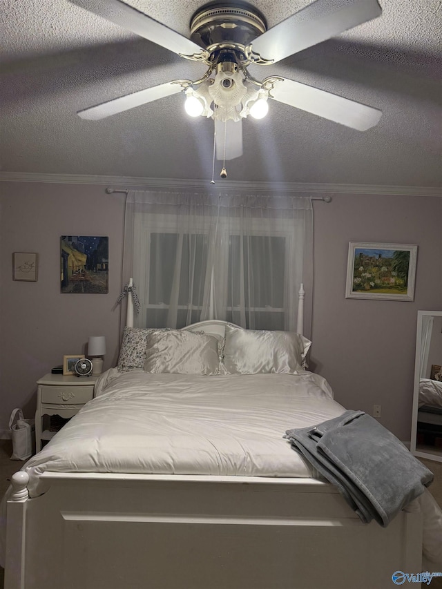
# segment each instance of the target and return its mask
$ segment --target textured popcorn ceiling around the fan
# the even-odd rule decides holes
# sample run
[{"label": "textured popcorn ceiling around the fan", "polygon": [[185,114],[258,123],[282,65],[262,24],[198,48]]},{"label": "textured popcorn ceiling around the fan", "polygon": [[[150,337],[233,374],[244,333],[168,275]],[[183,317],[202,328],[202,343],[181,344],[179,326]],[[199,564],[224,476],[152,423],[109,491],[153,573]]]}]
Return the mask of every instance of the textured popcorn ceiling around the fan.
[{"label": "textured popcorn ceiling around the fan", "polygon": [[[198,0],[131,0],[189,36]],[[269,27],[307,0],[253,1]],[[244,155],[229,180],[441,185],[442,9],[439,0],[381,0],[383,15],[273,66],[282,75],[383,111],[360,133],[271,101],[243,122]],[[93,122],[77,110],[205,67],[128,33],[67,0],[3,0],[0,174],[210,179],[213,123],[173,95]],[[220,168],[220,162],[217,168]],[[219,169],[218,169],[219,173]]]}]

